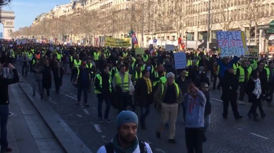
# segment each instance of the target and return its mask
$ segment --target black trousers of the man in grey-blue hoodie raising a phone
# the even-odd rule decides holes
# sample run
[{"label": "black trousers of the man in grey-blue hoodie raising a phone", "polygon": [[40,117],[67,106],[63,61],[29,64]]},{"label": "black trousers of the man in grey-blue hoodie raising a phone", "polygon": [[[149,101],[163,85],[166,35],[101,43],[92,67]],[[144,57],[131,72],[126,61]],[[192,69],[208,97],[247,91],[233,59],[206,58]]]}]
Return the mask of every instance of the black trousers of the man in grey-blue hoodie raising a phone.
[{"label": "black trousers of the man in grey-blue hoodie raising a phone", "polygon": [[203,138],[204,131],[203,127],[197,128],[184,128],[185,133],[185,144],[188,153],[202,153],[203,152]]}]

